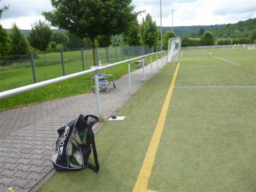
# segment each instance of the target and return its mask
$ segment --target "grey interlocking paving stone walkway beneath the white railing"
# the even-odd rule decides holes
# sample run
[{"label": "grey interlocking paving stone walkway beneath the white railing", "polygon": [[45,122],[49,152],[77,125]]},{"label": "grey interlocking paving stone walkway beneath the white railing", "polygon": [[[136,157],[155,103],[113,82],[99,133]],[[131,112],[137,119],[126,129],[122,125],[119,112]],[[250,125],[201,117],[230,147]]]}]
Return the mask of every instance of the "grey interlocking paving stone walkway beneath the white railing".
[{"label": "grey interlocking paving stone walkway beneath the white railing", "polygon": [[[157,73],[165,61],[152,62],[152,72]],[[151,65],[144,68],[145,79],[152,76]],[[115,80],[116,88],[109,93],[101,90],[99,101],[105,119],[115,114],[144,84],[143,69],[131,73],[131,94],[128,75]],[[41,104],[23,106],[0,113],[0,191],[37,191],[55,170],[51,155],[55,151],[57,129],[79,114],[97,115],[96,97],[93,93],[62,98]],[[97,132],[101,125],[93,127]]]}]

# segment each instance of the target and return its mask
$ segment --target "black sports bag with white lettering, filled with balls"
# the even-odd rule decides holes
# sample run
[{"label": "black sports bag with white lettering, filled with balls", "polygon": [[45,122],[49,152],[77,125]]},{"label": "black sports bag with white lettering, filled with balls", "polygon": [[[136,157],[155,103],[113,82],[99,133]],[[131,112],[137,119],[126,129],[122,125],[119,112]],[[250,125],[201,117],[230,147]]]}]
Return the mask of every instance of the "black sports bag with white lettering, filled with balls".
[{"label": "black sports bag with white lettering, filled with balls", "polygon": [[[99,121],[94,115],[79,115],[65,126],[58,129],[56,151],[52,155],[52,163],[57,170],[81,170],[85,166],[98,172],[99,163],[92,127]],[[95,166],[88,163],[91,150]]]}]

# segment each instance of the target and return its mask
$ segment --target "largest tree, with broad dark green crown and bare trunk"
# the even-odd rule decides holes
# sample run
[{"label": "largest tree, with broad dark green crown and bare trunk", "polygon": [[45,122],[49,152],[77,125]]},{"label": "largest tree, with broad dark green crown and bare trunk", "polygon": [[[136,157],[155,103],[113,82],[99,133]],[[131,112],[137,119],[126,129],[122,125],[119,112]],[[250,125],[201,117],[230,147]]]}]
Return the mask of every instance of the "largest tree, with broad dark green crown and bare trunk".
[{"label": "largest tree, with broad dark green crown and bare trunk", "polygon": [[120,34],[129,29],[130,22],[137,17],[131,0],[51,0],[51,3],[54,10],[42,15],[52,26],[68,30],[81,39],[90,38],[94,65],[97,36]]}]

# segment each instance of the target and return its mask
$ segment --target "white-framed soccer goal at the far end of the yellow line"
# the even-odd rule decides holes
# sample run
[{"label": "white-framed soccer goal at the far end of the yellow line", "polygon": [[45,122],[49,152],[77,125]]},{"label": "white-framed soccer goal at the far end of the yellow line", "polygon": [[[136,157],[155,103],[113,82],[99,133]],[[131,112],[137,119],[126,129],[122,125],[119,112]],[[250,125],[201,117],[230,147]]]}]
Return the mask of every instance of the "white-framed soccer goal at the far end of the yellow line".
[{"label": "white-framed soccer goal at the far end of the yellow line", "polygon": [[182,45],[180,37],[169,38],[168,40],[168,63],[179,63]]}]

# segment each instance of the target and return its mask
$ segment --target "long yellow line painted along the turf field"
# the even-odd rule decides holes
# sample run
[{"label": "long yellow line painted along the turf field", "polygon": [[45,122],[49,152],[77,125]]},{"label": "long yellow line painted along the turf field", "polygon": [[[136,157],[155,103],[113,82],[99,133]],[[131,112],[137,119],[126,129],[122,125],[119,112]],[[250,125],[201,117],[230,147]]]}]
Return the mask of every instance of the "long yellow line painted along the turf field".
[{"label": "long yellow line painted along the turf field", "polygon": [[145,156],[143,166],[140,170],[140,175],[138,175],[137,182],[133,189],[134,192],[151,191],[151,190],[147,190],[148,180],[150,179],[150,175],[151,175],[152,168],[155,161],[155,155],[157,154],[157,148],[162,135],[163,125],[165,124],[165,118],[166,118],[166,114],[170,104],[170,97],[172,97],[172,91],[175,85],[175,80],[177,77],[179,66],[180,66],[180,63],[177,64],[175,74],[173,75],[173,78],[172,78],[172,83],[170,83],[169,91],[166,95],[165,102],[162,106],[162,111],[158,119],[157,127],[155,128],[154,134],[151,138],[150,146],[148,147],[148,151]]}]

